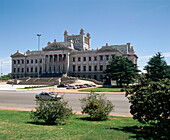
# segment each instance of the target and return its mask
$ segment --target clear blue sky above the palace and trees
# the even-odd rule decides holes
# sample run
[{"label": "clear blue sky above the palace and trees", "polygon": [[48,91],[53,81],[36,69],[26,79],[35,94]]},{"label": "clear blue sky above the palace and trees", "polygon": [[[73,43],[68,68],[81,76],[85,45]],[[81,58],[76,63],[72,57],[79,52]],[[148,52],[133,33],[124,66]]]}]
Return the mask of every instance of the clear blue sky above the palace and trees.
[{"label": "clear blue sky above the palace and trees", "polygon": [[142,70],[161,52],[170,65],[170,0],[0,0],[0,68],[11,72],[11,58],[17,50],[38,49],[64,31],[91,34],[91,49],[128,42],[138,55]]}]

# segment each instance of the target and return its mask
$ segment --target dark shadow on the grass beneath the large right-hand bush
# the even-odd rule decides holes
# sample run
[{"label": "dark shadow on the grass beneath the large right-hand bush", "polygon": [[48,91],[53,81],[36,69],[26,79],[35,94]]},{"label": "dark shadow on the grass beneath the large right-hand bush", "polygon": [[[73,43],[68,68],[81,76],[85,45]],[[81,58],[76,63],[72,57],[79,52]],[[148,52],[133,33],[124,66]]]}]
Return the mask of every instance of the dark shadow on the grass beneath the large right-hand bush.
[{"label": "dark shadow on the grass beneath the large right-hand bush", "polygon": [[130,138],[137,139],[170,139],[170,130],[165,132],[163,129],[154,128],[152,126],[127,126],[122,128],[111,127],[108,129],[123,131],[136,134],[136,136],[130,136]]}]

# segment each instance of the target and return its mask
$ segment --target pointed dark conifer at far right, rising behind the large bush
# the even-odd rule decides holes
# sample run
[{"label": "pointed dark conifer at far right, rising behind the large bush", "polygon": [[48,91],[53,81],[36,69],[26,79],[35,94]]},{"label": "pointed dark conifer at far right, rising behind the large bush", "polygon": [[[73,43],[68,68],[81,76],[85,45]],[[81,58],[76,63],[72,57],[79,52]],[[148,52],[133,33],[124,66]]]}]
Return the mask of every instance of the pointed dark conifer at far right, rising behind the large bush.
[{"label": "pointed dark conifer at far right, rising behind the large bush", "polygon": [[170,66],[160,52],[149,60],[144,69],[149,80],[159,81],[159,79],[170,78]]}]

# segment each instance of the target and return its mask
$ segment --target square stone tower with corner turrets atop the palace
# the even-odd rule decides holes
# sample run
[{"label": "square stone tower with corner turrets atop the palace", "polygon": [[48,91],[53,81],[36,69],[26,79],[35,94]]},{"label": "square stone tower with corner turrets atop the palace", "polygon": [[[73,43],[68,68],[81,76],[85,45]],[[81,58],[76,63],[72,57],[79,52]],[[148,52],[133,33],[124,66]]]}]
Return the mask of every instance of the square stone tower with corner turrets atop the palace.
[{"label": "square stone tower with corner turrets atop the palace", "polygon": [[68,31],[64,32],[64,42],[73,42],[73,46],[75,50],[90,50],[90,33],[85,35],[84,29],[80,30],[79,35],[68,35]]}]

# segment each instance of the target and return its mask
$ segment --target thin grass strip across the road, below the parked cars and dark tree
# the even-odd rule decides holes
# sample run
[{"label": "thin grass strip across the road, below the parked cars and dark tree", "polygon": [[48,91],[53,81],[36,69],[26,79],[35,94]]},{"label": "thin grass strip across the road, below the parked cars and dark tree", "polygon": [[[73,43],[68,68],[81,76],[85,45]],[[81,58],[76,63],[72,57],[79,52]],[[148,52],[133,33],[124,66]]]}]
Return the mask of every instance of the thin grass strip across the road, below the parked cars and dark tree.
[{"label": "thin grass strip across the road, below the parked cars and dark tree", "polygon": [[79,91],[93,91],[93,92],[120,92],[122,88],[103,88],[103,87],[96,87],[96,88],[87,88],[81,89]]}]

